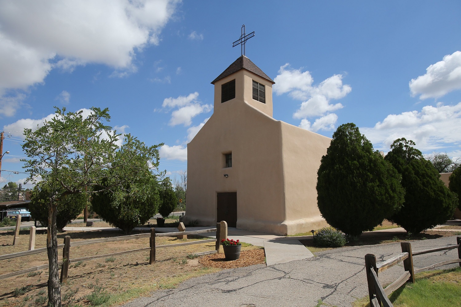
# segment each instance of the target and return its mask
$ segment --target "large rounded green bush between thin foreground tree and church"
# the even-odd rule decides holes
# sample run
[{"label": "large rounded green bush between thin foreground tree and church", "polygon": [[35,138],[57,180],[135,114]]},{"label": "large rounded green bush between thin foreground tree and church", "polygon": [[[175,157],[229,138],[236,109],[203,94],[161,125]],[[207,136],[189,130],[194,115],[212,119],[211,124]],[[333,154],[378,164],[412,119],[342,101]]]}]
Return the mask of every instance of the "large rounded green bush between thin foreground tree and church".
[{"label": "large rounded green bush between thin foreground tree and church", "polygon": [[[160,159],[157,147],[159,145],[148,148],[131,135],[126,135],[125,144],[116,153],[112,163],[114,168],[107,170],[106,178],[101,180],[101,185],[95,186],[95,191],[103,191],[92,197],[93,209],[104,220],[122,229],[125,234],[131,233],[134,227],[146,223],[157,214],[159,184],[148,167],[148,161],[137,152],[153,151],[156,162],[152,164],[157,168]],[[118,165],[120,167],[117,167]],[[124,174],[127,181],[123,185],[104,191],[115,172]]]}]

